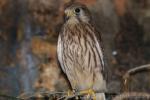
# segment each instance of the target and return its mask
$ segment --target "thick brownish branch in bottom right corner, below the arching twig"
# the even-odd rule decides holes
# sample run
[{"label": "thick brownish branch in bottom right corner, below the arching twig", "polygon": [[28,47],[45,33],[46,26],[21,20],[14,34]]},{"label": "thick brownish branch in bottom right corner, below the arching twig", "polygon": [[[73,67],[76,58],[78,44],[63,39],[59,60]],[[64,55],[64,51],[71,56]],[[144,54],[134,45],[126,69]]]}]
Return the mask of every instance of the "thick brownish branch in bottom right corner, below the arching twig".
[{"label": "thick brownish branch in bottom right corner, below the arching twig", "polygon": [[124,99],[134,99],[137,98],[138,100],[149,100],[150,94],[148,93],[141,93],[141,92],[126,92],[120,95],[117,95],[113,98],[113,100],[124,100]]}]

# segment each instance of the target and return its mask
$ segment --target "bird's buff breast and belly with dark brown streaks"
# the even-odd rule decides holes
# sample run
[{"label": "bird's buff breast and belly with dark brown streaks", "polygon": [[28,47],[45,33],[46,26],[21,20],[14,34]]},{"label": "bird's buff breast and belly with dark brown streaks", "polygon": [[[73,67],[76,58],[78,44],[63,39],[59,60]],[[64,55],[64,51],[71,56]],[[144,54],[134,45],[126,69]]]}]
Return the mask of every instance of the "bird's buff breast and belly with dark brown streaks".
[{"label": "bird's buff breast and belly with dark brown streaks", "polygon": [[97,84],[103,83],[103,77],[100,77],[102,76],[99,52],[101,48],[96,45],[97,40],[91,33],[92,30],[84,30],[80,26],[74,29],[76,30],[64,29],[61,37],[61,61],[72,87],[84,90],[94,87],[95,80]]}]

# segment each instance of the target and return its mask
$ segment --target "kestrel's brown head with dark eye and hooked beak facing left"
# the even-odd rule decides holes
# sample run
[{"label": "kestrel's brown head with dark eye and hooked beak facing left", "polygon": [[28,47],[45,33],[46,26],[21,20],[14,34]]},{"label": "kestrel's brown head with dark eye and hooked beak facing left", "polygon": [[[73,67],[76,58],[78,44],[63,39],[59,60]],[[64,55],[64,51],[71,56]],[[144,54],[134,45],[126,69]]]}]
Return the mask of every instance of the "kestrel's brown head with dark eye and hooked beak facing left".
[{"label": "kestrel's brown head with dark eye and hooked beak facing left", "polygon": [[91,19],[88,8],[80,3],[73,3],[65,8],[65,21],[69,23],[89,22]]}]

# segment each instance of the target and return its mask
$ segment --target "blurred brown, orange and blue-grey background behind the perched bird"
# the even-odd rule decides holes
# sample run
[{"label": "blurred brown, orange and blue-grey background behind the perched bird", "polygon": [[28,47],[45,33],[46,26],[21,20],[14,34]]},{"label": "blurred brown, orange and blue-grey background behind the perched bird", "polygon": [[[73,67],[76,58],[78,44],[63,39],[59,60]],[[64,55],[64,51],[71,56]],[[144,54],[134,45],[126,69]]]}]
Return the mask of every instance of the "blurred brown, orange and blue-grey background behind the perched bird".
[{"label": "blurred brown, orange and blue-grey background behind the perched bird", "polygon": [[[0,94],[69,89],[56,59],[69,1],[0,0]],[[76,1],[88,6],[101,32],[108,90],[123,92],[125,72],[150,63],[150,0]],[[134,75],[128,89],[150,92],[150,72]]]}]

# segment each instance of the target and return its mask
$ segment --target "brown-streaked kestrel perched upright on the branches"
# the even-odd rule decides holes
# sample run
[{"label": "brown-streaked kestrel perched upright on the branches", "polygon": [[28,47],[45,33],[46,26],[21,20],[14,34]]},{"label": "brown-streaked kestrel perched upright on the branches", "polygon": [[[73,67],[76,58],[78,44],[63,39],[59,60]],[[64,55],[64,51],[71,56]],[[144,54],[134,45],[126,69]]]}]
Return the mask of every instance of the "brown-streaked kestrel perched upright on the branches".
[{"label": "brown-streaked kestrel perched upright on the branches", "polygon": [[[65,23],[57,44],[58,61],[63,72],[75,91],[105,91],[103,49],[90,11],[76,2],[68,4],[64,13]],[[95,93],[95,98],[105,100],[105,95]]]}]

